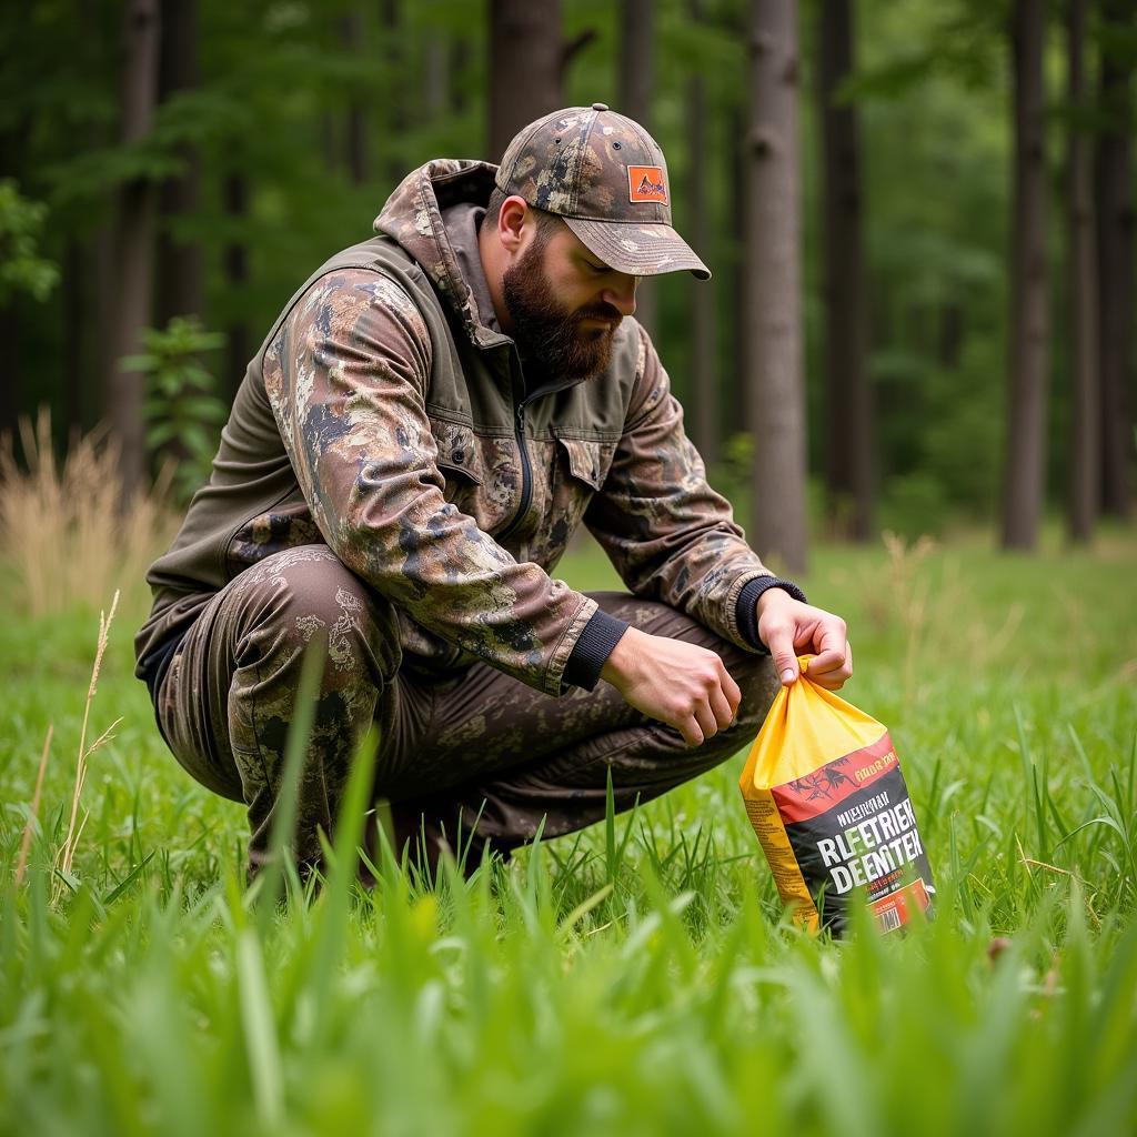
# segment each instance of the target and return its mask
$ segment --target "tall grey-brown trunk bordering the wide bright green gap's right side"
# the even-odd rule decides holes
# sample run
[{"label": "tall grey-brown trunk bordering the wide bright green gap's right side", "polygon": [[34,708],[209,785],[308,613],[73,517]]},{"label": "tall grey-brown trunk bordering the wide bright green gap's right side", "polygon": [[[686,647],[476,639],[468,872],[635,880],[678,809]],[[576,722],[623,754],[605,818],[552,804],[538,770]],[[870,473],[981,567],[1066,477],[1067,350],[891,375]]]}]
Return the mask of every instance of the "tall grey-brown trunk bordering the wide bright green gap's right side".
[{"label": "tall grey-brown trunk bordering the wide bright green gap's right side", "polygon": [[1015,0],[1014,205],[1011,235],[1011,383],[1003,547],[1032,549],[1043,512],[1046,364],[1045,0]]}]

